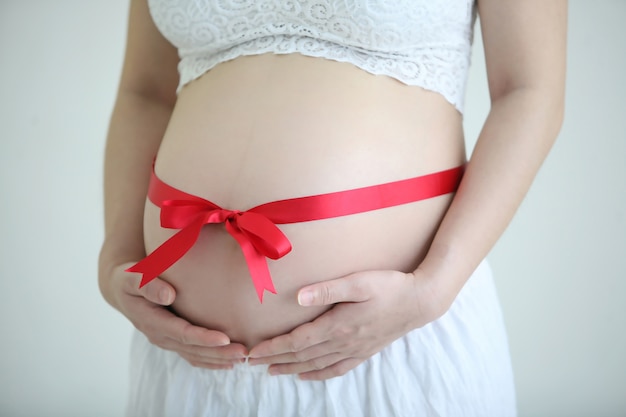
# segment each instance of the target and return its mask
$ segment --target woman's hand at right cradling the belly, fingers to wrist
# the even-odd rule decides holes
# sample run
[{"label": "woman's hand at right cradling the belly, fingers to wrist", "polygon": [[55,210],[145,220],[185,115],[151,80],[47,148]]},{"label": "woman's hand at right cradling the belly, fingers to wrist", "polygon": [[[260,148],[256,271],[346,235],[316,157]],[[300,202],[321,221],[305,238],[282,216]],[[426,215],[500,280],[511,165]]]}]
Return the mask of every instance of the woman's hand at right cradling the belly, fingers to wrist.
[{"label": "woman's hand at right cradling the belly, fingers to wrist", "polygon": [[417,273],[366,271],[302,288],[303,306],[335,306],[291,333],[250,350],[251,365],[322,380],[340,376],[438,313],[432,289]]}]

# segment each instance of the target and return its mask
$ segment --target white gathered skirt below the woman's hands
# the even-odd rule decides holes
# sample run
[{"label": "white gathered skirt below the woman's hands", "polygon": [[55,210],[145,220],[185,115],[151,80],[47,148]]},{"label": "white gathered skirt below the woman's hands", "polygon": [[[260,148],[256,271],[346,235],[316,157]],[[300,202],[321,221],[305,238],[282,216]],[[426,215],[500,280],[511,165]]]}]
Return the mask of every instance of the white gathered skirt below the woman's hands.
[{"label": "white gathered skirt below the woman's hands", "polygon": [[128,417],[512,417],[515,392],[491,270],[483,262],[439,320],[343,377],[301,381],[265,366],[193,368],[133,339]]}]

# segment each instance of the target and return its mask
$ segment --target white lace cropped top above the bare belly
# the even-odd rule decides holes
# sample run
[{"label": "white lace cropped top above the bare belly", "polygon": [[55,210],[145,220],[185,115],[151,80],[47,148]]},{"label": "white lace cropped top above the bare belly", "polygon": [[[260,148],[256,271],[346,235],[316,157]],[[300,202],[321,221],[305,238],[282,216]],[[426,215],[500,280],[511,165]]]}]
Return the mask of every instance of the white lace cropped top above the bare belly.
[{"label": "white lace cropped top above the bare belly", "polygon": [[462,112],[474,0],[148,0],[180,86],[242,55],[348,62],[440,93]]}]

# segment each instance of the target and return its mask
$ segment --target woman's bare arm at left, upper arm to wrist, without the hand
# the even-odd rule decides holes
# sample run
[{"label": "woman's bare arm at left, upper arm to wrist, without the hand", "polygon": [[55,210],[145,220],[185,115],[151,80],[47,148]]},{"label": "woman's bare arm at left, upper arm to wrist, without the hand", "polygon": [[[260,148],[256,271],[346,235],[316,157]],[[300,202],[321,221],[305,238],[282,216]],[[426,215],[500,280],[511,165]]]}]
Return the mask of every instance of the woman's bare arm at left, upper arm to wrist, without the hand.
[{"label": "woman's bare arm at left, upper arm to wrist, without the hand", "polygon": [[178,82],[176,50],[152,23],[145,1],[132,1],[128,40],[104,164],[105,242],[100,285],[107,301],[107,269],[145,256],[143,210],[150,166],[169,121]]}]

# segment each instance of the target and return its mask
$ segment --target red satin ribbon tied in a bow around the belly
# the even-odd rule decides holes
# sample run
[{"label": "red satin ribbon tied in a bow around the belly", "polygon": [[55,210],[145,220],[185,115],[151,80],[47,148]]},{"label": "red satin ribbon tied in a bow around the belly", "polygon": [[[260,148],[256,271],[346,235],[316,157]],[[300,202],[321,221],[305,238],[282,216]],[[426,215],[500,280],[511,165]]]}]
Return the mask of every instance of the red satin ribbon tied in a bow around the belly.
[{"label": "red satin ribbon tied in a bow around the belly", "polygon": [[167,270],[196,243],[207,224],[224,223],[239,243],[259,300],[276,293],[266,258],[279,259],[291,243],[276,226],[362,213],[447,194],[457,189],[463,166],[408,180],[335,193],[273,201],[247,211],[226,210],[161,181],[152,170],[148,198],[161,208],[161,226],[180,229],[143,260],[128,268],[139,272],[140,288]]}]

